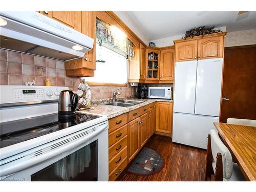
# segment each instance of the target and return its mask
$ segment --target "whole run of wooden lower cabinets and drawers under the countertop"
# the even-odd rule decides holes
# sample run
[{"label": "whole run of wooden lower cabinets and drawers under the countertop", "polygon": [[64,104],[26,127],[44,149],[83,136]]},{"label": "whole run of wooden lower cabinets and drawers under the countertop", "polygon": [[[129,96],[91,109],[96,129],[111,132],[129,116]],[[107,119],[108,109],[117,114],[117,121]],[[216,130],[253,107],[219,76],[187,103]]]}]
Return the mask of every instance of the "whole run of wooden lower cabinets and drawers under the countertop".
[{"label": "whole run of wooden lower cabinets and drawers under the countertop", "polygon": [[171,102],[154,102],[109,120],[109,181],[116,180],[155,131],[171,133],[172,109]]}]

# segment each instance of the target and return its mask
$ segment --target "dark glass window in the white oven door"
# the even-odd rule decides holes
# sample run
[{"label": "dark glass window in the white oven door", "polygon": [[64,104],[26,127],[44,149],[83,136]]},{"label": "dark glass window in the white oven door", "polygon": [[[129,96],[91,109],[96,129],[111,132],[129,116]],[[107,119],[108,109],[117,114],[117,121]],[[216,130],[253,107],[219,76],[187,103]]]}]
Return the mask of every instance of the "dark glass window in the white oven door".
[{"label": "dark glass window in the white oven door", "polygon": [[31,175],[31,181],[97,181],[97,140]]}]

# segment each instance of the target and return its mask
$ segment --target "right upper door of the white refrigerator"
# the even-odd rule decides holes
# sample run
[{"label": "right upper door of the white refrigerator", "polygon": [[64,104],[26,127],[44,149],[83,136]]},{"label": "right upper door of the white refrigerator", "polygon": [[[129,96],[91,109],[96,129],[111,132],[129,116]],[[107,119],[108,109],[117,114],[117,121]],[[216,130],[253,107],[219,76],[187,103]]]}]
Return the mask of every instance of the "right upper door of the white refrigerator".
[{"label": "right upper door of the white refrigerator", "polygon": [[219,116],[222,66],[223,58],[198,60],[195,114]]}]

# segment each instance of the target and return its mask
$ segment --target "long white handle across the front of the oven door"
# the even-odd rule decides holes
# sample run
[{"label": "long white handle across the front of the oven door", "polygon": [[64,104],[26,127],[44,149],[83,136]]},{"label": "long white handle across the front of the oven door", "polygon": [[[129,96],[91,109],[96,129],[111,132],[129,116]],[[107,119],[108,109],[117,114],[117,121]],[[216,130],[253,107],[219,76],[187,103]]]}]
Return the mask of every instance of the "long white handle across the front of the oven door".
[{"label": "long white handle across the front of the oven door", "polygon": [[[28,155],[31,156],[30,159],[25,160],[23,162],[10,162],[10,163],[6,163],[2,166],[0,166],[0,177],[6,177],[12,174],[15,174],[17,172],[20,172],[21,170],[24,170],[28,167],[31,167],[35,164],[38,164],[40,162],[46,161],[48,159],[51,159],[55,156],[58,156],[62,153],[65,153],[69,150],[72,150],[73,148],[86,143],[86,141],[96,137],[97,135],[99,135],[102,131],[104,131],[106,128],[108,127],[108,124],[102,124],[100,126],[97,127],[97,130],[94,131],[93,133],[86,135],[86,136],[82,136],[80,139],[77,140],[73,140],[71,141],[71,143],[69,144],[63,144],[62,146],[59,146],[51,151],[49,151],[48,153],[43,153],[41,155],[38,156],[33,156],[33,153]],[[107,133],[108,134],[108,133]],[[70,135],[70,138],[73,138],[75,136],[75,134]],[[11,165],[10,165],[11,164]]]}]

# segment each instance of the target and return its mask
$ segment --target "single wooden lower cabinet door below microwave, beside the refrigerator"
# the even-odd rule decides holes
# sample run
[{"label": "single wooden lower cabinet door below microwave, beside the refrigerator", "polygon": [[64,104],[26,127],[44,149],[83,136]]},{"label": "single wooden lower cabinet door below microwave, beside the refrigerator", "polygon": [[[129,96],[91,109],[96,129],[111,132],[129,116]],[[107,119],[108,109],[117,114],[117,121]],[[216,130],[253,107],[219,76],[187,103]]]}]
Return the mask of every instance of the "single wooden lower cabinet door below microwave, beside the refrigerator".
[{"label": "single wooden lower cabinet door below microwave, beside the refrigerator", "polygon": [[156,131],[171,135],[173,123],[173,103],[158,101],[156,108]]}]

